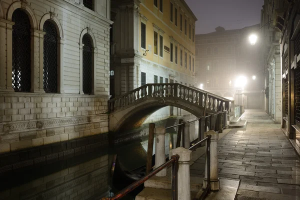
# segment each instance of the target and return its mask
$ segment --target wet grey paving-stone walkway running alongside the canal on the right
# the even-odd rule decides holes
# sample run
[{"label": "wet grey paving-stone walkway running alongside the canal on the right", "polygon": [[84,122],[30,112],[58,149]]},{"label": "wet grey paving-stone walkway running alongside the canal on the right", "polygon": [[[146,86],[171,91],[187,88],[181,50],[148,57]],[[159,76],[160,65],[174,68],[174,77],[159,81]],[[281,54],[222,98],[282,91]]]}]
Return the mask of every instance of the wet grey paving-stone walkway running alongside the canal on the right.
[{"label": "wet grey paving-stone walkway running alongside the canal on the right", "polygon": [[[231,129],[218,141],[220,178],[239,179],[235,199],[300,199],[300,157],[280,124],[261,110],[246,110],[246,128]],[[195,161],[203,165],[204,157]],[[190,173],[202,176],[199,166]]]}]

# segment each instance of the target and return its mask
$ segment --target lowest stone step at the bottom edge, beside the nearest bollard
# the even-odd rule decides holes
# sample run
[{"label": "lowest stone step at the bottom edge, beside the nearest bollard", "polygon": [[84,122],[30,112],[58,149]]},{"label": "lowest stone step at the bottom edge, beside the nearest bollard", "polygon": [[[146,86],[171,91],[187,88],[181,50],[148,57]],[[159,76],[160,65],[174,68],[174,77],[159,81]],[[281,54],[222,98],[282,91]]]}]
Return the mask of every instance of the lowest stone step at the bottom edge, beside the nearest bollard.
[{"label": "lowest stone step at the bottom edge, beside the nearest bollard", "polygon": [[[197,192],[190,192],[190,199],[196,195]],[[171,189],[160,189],[146,187],[135,196],[135,200],[168,200],[172,199]],[[187,199],[186,199],[187,200]]]}]

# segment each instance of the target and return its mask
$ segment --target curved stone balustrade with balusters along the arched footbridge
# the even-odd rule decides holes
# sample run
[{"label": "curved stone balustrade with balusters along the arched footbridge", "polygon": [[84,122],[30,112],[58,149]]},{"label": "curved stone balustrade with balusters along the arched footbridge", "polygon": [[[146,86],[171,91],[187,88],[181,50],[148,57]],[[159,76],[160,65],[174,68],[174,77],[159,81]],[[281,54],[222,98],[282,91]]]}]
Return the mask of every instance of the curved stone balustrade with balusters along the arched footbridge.
[{"label": "curved stone balustrade with balusters along the arched footbridge", "polygon": [[[127,93],[110,99],[109,110],[114,112],[130,105],[136,105],[149,98],[173,98],[186,100],[191,104],[205,107],[206,112],[229,109],[229,100],[179,83],[148,83]],[[205,103],[206,99],[206,103]]]}]

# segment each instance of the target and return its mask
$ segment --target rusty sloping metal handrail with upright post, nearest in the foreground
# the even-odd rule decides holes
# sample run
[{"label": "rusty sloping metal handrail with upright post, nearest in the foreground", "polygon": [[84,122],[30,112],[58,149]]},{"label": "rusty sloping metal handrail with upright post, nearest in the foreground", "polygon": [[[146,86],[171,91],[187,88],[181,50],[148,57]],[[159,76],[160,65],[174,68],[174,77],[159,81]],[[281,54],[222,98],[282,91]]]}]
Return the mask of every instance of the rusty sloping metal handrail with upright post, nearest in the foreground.
[{"label": "rusty sloping metal handrail with upright post, nearest in the foreground", "polygon": [[125,196],[127,193],[144,183],[146,180],[148,180],[150,177],[161,171],[163,168],[169,166],[172,164],[172,199],[177,200],[177,172],[178,172],[178,159],[179,155],[172,155],[171,159],[168,161],[164,162],[160,166],[158,166],[156,169],[153,171],[149,172],[148,174],[144,175],[142,178],[139,180],[136,180],[135,182],[131,183],[127,187],[123,188],[120,190],[117,194],[115,194],[112,197],[103,197],[102,200],[116,200],[120,199],[121,197]]}]

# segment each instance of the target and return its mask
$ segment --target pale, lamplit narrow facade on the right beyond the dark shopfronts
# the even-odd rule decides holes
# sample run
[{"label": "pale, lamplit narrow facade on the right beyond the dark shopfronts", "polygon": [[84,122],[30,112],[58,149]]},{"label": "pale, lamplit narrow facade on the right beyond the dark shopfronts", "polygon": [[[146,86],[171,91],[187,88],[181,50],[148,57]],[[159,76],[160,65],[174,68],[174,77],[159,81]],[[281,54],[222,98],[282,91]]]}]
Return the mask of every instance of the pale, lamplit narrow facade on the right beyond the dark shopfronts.
[{"label": "pale, lamplit narrow facade on the right beyond the dark shopfronts", "polygon": [[261,10],[260,36],[261,55],[264,64],[264,110],[274,120],[281,123],[281,72],[280,72],[280,32],[274,28],[275,10],[283,1],[264,0]]}]

